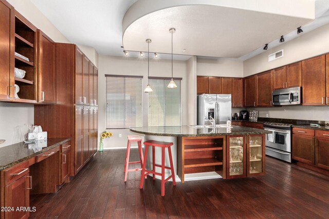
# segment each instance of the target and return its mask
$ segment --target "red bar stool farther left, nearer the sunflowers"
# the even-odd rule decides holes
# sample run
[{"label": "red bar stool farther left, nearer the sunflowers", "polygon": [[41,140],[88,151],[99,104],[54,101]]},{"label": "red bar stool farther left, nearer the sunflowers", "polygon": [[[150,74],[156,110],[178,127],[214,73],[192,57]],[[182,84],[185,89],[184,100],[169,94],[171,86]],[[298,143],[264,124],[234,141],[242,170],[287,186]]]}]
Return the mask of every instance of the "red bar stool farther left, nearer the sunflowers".
[{"label": "red bar stool farther left, nearer the sunflowers", "polygon": [[[126,152],[125,152],[125,161],[124,161],[124,168],[123,168],[124,182],[127,181],[127,174],[128,174],[128,172],[142,170],[143,160],[144,160],[144,158],[143,158],[142,139],[141,139],[141,137],[138,136],[138,135],[128,135],[127,137],[128,137],[128,143],[127,143],[127,149],[126,149]],[[131,147],[132,142],[137,142],[137,144],[138,144],[139,161],[129,162],[130,147]],[[140,167],[141,168],[128,169],[128,166],[130,164],[140,164]]]}]

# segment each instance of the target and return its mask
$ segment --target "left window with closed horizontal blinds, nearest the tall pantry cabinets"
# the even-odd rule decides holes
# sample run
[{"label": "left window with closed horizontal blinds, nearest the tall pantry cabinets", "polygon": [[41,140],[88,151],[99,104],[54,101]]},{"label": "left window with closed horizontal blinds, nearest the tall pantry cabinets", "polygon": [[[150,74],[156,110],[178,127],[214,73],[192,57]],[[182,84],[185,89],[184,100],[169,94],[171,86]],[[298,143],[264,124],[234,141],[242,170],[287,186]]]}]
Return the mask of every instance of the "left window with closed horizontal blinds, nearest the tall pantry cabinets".
[{"label": "left window with closed horizontal blinds, nearest the tall pantry cabinets", "polygon": [[142,76],[105,75],[106,129],[142,126]]}]

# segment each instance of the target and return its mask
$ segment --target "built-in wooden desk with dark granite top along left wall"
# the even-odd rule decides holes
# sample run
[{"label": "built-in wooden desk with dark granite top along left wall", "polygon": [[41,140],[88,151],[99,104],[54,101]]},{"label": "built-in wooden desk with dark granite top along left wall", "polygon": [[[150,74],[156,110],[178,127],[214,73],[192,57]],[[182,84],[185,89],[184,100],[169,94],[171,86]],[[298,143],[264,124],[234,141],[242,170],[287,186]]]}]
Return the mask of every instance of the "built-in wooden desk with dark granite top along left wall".
[{"label": "built-in wooden desk with dark granite top along left wall", "polygon": [[48,138],[0,148],[1,218],[27,218],[33,211],[30,194],[53,193],[69,182],[70,140]]}]

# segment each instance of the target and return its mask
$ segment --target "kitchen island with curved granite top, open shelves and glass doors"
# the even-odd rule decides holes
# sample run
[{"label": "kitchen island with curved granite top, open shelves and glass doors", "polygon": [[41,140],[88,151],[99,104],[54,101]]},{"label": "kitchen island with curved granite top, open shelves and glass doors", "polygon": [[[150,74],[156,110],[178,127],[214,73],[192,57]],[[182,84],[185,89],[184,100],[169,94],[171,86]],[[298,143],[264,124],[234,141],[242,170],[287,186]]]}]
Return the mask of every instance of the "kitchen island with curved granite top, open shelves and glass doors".
[{"label": "kitchen island with curved granite top, open shelves and glass doors", "polygon": [[[176,181],[209,178],[236,178],[265,174],[265,134],[263,129],[241,126],[137,127],[130,131],[144,134],[144,141],[172,142]],[[147,168],[152,167],[152,150],[147,154]],[[151,152],[151,153],[150,153]],[[160,163],[161,150],[155,149]],[[169,164],[166,151],[165,163]],[[156,170],[159,171],[159,170]],[[166,177],[170,171],[166,170]]]}]

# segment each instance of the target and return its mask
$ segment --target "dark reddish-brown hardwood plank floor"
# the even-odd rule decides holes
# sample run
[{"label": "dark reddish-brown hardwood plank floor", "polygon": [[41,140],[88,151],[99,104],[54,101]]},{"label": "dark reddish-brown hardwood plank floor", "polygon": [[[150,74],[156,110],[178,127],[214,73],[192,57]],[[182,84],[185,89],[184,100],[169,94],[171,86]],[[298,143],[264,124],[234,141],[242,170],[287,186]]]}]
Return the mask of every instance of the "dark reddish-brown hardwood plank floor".
[{"label": "dark reddish-brown hardwood plank floor", "polygon": [[124,158],[97,153],[57,193],[31,195],[30,218],[329,218],[329,177],[271,157],[265,176],[168,182],[164,197],[151,177],[139,189],[140,172],[124,183]]}]

